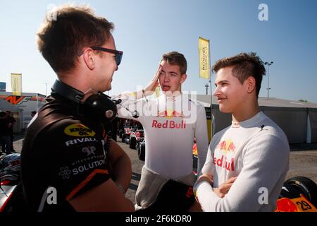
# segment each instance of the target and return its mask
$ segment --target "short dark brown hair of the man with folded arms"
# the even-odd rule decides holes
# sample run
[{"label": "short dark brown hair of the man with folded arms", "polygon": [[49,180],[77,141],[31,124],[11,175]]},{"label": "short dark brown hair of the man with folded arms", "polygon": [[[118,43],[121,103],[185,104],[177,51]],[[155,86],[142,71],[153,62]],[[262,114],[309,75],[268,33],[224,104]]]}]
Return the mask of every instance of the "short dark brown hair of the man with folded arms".
[{"label": "short dark brown hair of the man with folded arms", "polygon": [[235,57],[223,58],[213,65],[213,71],[217,73],[220,69],[232,66],[232,75],[243,83],[249,76],[256,80],[256,96],[259,97],[262,77],[266,74],[263,61],[256,53],[240,53]]}]

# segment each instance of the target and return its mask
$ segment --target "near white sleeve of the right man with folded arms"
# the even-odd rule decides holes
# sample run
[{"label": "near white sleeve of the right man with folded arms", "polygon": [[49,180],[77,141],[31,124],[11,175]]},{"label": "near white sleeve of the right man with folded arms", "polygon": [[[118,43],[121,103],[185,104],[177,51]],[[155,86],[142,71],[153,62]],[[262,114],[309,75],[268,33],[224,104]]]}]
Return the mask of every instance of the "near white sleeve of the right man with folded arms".
[{"label": "near white sleeve of the right man with folded arms", "polygon": [[[208,183],[198,184],[196,194],[204,211],[258,211],[263,205],[259,203],[261,188],[267,189],[268,196],[274,190],[276,194],[269,201],[276,203],[282,187],[282,183],[280,188],[277,184],[284,181],[288,171],[288,143],[278,136],[265,135],[254,139],[246,148],[242,154],[244,167],[224,198],[211,191]],[[268,205],[275,206],[275,203]]]}]

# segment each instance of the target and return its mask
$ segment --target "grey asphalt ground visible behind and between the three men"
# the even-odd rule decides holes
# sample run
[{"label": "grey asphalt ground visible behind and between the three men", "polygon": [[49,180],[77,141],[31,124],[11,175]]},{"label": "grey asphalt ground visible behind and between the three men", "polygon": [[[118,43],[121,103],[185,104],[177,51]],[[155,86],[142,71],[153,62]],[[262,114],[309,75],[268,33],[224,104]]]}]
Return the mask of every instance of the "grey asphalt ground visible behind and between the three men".
[{"label": "grey asphalt ground visible behind and between the three men", "polygon": [[[13,146],[18,153],[22,149],[23,137],[23,134],[18,134],[14,138]],[[130,149],[129,145],[122,143],[120,138],[117,141],[132,163],[132,179],[126,196],[135,203],[135,191],[137,191],[144,162],[137,157],[137,150]],[[290,148],[290,171],[287,173],[286,179],[303,176],[309,177],[317,184],[317,143],[294,144],[290,145]]]}]

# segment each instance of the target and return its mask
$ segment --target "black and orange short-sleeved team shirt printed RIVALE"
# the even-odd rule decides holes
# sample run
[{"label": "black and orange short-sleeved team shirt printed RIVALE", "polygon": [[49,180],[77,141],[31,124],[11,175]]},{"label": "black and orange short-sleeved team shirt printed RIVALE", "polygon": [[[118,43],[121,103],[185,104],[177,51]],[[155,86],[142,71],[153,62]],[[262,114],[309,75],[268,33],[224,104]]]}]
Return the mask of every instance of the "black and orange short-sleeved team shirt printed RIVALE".
[{"label": "black and orange short-sleeved team shirt printed RIVALE", "polygon": [[33,211],[71,211],[70,199],[110,178],[106,132],[79,114],[75,102],[58,95],[46,100],[27,129],[21,153],[25,201]]}]

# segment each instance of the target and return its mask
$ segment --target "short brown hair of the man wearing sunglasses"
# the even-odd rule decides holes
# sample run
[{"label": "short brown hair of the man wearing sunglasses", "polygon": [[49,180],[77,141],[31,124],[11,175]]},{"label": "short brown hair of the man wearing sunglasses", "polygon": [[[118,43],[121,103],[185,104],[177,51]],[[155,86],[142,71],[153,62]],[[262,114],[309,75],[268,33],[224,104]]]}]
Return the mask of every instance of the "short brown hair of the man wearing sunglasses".
[{"label": "short brown hair of the man wearing sunglasses", "polygon": [[54,13],[56,20],[46,17],[37,33],[37,45],[55,72],[73,69],[83,47],[104,44],[113,30],[113,23],[94,16],[88,6],[66,4]]}]

